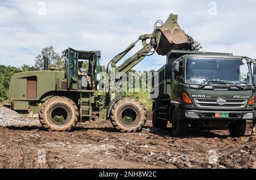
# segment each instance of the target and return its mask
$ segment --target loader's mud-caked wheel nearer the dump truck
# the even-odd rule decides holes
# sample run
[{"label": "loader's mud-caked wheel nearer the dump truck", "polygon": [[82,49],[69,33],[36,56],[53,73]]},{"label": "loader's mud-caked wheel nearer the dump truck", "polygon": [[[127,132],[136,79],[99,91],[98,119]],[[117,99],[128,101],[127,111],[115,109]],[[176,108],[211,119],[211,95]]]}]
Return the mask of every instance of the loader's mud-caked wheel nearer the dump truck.
[{"label": "loader's mud-caked wheel nearer the dump truck", "polygon": [[141,131],[147,120],[146,108],[134,98],[123,98],[114,104],[110,121],[120,132]]}]

